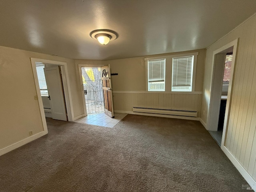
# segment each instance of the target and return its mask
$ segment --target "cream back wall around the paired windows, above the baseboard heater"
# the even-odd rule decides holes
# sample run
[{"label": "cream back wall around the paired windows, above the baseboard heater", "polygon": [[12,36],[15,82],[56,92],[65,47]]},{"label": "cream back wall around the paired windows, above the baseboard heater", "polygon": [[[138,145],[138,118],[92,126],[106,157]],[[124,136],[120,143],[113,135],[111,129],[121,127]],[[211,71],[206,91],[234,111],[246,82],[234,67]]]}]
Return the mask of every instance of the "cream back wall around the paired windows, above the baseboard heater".
[{"label": "cream back wall around the paired windows, above the baseboard heater", "polygon": [[[144,58],[198,52],[196,65],[196,93],[150,93],[146,91],[146,64]],[[204,74],[205,50],[169,53],[106,61],[112,76],[114,110],[132,112],[133,107],[194,110],[200,116],[201,91]],[[168,73],[168,71],[166,71]],[[169,72],[170,73],[170,72]],[[170,88],[171,89],[171,88]]]}]

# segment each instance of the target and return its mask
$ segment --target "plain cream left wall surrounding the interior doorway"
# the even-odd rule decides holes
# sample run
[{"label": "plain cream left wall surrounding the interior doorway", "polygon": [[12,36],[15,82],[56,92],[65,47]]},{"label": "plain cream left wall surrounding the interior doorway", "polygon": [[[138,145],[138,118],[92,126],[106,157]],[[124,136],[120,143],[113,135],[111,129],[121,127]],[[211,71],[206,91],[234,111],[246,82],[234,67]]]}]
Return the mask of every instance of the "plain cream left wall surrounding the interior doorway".
[{"label": "plain cream left wall surrounding the interior doorway", "polygon": [[0,46],[0,151],[43,131],[30,58],[67,63],[74,116],[83,112],[74,60]]}]

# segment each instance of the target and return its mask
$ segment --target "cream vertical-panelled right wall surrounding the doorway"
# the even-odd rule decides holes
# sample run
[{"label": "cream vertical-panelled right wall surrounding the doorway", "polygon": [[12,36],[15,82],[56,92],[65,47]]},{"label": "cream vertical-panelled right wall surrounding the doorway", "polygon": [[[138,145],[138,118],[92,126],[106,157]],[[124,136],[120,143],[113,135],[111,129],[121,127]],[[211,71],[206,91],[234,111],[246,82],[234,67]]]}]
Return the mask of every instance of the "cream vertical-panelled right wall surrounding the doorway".
[{"label": "cream vertical-panelled right wall surrounding the doorway", "polygon": [[210,76],[214,50],[238,39],[224,146],[256,180],[256,15],[206,49],[202,120],[206,122],[210,100]]}]

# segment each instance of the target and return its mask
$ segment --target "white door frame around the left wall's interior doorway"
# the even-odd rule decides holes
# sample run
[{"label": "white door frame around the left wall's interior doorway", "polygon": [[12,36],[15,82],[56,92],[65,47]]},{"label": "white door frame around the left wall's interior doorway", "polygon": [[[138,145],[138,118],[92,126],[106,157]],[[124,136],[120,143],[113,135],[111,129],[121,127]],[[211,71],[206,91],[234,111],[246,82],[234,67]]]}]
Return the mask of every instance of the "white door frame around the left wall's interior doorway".
[{"label": "white door frame around the left wall's interior doorway", "polygon": [[68,114],[68,121],[73,121],[74,114],[73,114],[73,106],[72,106],[72,103],[70,102],[70,100],[71,100],[70,93],[71,92],[70,92],[69,79],[67,78],[68,77],[67,63],[60,62],[60,61],[38,59],[38,58],[30,58],[30,60],[31,60],[33,74],[34,74],[34,82],[35,82],[35,86],[36,86],[36,93],[37,93],[37,97],[38,97],[38,104],[39,104],[39,108],[40,108],[40,113],[41,113],[41,117],[42,117],[44,130],[47,130],[47,125],[46,125],[46,119],[45,119],[45,115],[44,115],[44,106],[43,106],[43,101],[42,101],[42,97],[41,97],[41,93],[40,93],[38,77],[37,77],[37,73],[36,73],[36,62],[60,66],[60,70],[62,72],[62,84],[63,84],[63,91],[64,91],[64,97],[65,97],[65,102],[66,102],[66,110],[67,110],[67,114]]}]

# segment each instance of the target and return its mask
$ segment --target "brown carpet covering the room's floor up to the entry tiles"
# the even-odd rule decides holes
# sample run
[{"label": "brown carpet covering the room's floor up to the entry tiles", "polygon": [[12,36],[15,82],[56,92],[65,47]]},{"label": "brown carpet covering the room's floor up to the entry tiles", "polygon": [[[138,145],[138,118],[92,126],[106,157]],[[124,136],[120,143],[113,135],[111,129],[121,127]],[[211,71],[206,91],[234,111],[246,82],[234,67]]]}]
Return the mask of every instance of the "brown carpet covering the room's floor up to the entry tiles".
[{"label": "brown carpet covering the room's floor up to the entry tiles", "polygon": [[127,115],[114,128],[47,118],[0,156],[0,192],[236,192],[247,182],[198,121]]}]

